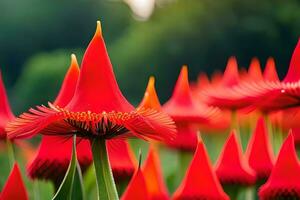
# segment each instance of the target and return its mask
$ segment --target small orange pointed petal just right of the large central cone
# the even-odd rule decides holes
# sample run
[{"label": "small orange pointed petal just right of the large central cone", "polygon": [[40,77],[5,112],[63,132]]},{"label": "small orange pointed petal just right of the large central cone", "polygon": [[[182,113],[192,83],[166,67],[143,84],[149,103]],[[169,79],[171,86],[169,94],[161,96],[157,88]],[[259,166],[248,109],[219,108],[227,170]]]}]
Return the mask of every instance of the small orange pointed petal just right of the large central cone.
[{"label": "small orange pointed petal just right of the large central cone", "polygon": [[161,110],[161,105],[155,90],[155,78],[151,76],[144,94],[144,98],[138,108],[152,108]]}]

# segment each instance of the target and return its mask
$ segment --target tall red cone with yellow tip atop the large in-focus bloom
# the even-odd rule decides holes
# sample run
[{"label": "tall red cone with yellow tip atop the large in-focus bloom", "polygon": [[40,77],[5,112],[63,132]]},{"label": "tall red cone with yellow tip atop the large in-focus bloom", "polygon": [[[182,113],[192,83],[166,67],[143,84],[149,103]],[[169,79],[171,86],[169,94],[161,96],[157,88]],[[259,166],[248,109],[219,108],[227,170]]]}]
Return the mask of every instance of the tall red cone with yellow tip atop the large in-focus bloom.
[{"label": "tall red cone with yellow tip atop the large in-focus bloom", "polygon": [[95,113],[133,110],[117,84],[99,21],[83,56],[77,88],[67,109]]}]

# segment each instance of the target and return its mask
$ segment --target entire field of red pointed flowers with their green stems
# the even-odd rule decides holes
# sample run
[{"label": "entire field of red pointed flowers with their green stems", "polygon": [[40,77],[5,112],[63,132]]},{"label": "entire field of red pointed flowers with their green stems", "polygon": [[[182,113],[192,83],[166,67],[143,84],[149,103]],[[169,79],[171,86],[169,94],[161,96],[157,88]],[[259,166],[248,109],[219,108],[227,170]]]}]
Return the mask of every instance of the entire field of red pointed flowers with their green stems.
[{"label": "entire field of red pointed flowers with their green stems", "polygon": [[[183,66],[164,104],[150,77],[135,108],[119,89],[98,22],[80,67],[72,54],[47,106],[15,117],[0,79],[0,138],[12,167],[0,199],[30,197],[18,150],[32,182],[54,184],[54,199],[78,191],[84,199],[84,187],[97,188],[99,199],[300,199],[299,105],[300,41],[282,81],[273,58],[262,71],[257,58],[245,70],[230,57],[224,73],[200,73],[197,83]],[[38,134],[38,148],[23,140]],[[144,162],[134,138],[149,143]]]}]

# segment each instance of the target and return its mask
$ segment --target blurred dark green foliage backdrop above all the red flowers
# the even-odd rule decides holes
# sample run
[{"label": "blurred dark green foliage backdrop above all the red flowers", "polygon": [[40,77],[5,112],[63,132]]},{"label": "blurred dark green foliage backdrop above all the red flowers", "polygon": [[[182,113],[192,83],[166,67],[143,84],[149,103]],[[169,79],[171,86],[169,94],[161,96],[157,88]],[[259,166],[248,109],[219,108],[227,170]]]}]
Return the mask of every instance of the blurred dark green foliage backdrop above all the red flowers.
[{"label": "blurred dark green foliage backdrop above all the red flowers", "polygon": [[183,64],[196,79],[223,70],[231,55],[241,67],[253,56],[263,66],[274,56],[282,77],[300,35],[297,0],[156,0],[142,20],[121,0],[1,0],[0,10],[0,66],[16,114],[55,98],[71,53],[81,59],[99,19],[120,87],[134,104],[150,75],[164,102]]}]

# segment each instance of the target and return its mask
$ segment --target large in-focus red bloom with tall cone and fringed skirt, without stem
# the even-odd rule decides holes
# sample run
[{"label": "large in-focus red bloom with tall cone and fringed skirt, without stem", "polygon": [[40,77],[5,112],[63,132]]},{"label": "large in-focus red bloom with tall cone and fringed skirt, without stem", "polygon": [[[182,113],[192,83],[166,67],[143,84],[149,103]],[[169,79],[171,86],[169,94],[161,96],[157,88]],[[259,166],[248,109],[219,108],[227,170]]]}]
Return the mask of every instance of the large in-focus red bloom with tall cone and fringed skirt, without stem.
[{"label": "large in-focus red bloom with tall cone and fringed skirt, without stem", "polygon": [[122,95],[114,76],[101,33],[100,22],[80,69],[74,96],[65,106],[30,109],[7,126],[10,138],[44,135],[77,135],[87,139],[111,139],[134,135],[170,140],[172,119],[153,109],[134,109]]}]

